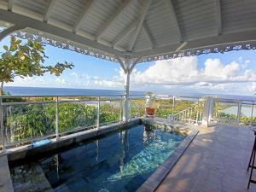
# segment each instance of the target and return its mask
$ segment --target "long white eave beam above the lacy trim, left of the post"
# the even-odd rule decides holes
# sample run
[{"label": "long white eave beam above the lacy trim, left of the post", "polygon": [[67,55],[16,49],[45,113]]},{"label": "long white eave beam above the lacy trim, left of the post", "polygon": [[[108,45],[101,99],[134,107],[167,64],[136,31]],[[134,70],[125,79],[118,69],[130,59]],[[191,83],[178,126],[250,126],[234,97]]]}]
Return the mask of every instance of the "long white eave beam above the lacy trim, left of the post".
[{"label": "long white eave beam above the lacy trim, left of the post", "polygon": [[0,20],[14,23],[20,26],[30,27],[41,32],[46,32],[46,34],[51,34],[53,37],[57,36],[61,39],[66,39],[73,41],[74,43],[83,44],[84,46],[90,47],[92,49],[102,50],[103,52],[106,52],[110,55],[119,55],[123,58],[126,58],[124,52],[113,49],[104,44],[99,44],[96,41],[90,40],[89,38],[84,38],[73,32],[68,32],[65,29],[50,25],[49,23],[32,19],[31,17],[27,17],[25,15],[20,15],[13,12],[9,12],[7,10],[0,9]]}]

